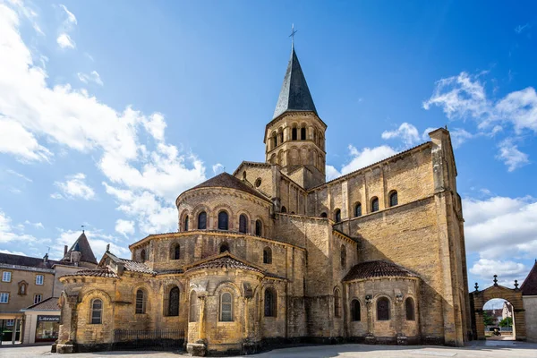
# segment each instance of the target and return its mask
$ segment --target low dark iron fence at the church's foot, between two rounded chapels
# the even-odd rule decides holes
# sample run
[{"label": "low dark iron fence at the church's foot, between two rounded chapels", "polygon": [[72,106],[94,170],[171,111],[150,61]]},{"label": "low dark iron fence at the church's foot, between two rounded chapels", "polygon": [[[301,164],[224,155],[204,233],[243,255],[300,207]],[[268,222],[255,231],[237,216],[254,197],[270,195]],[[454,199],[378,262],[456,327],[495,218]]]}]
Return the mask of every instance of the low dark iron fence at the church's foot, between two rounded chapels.
[{"label": "low dark iron fence at the church's foot, between two rounded chapels", "polygon": [[115,349],[182,349],[184,343],[183,329],[115,329]]}]

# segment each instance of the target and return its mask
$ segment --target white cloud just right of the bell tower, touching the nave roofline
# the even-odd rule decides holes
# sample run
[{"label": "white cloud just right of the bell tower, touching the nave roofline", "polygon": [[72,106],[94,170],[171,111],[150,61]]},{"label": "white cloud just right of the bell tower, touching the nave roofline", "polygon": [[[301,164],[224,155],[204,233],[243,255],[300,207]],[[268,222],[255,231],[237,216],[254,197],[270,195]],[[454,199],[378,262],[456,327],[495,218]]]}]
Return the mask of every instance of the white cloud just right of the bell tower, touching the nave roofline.
[{"label": "white cloud just right of the bell tower, touching the nave roofline", "polygon": [[375,148],[364,148],[362,150],[358,150],[352,145],[349,145],[348,148],[351,156],[350,162],[345,166],[342,166],[341,171],[338,171],[334,166],[326,166],[328,180],[335,179],[341,175],[349,174],[355,170],[361,169],[364,166],[370,166],[373,163],[389,158],[397,153],[395,149],[392,149],[386,145]]}]

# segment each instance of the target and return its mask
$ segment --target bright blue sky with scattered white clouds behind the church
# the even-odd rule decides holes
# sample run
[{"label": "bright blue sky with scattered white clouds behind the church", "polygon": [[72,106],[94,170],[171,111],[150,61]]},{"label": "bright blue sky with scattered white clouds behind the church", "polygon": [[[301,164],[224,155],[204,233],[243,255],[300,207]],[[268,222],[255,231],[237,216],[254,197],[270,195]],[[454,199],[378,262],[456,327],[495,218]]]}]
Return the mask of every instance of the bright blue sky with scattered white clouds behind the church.
[{"label": "bright blue sky with scattered white clouds behind the church", "polygon": [[[456,144],[470,281],[537,256],[532,2],[0,1],[0,250],[174,231],[183,190],[264,160],[295,47],[330,177]],[[473,285],[472,285],[473,286]]]}]

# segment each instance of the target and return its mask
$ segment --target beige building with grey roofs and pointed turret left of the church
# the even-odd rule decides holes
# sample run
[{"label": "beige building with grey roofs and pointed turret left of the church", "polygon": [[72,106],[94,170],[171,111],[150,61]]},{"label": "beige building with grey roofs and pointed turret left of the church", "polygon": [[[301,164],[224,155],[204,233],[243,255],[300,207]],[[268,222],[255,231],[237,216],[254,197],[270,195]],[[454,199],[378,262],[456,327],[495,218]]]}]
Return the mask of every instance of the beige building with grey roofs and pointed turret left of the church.
[{"label": "beige building with grey roofs and pointed turret left of the church", "polygon": [[[0,253],[0,329],[2,332],[16,332],[14,336],[12,333],[12,337],[4,337],[4,340],[21,341],[25,309],[51,297],[59,297],[63,291],[59,277],[96,266],[97,260],[84,233],[72,244],[71,249],[64,247],[62,260],[49,260],[48,254],[39,259]],[[56,310],[55,314],[59,317],[59,311]],[[26,329],[30,329],[30,326],[26,325]],[[30,334],[24,335],[30,337]]]}]

